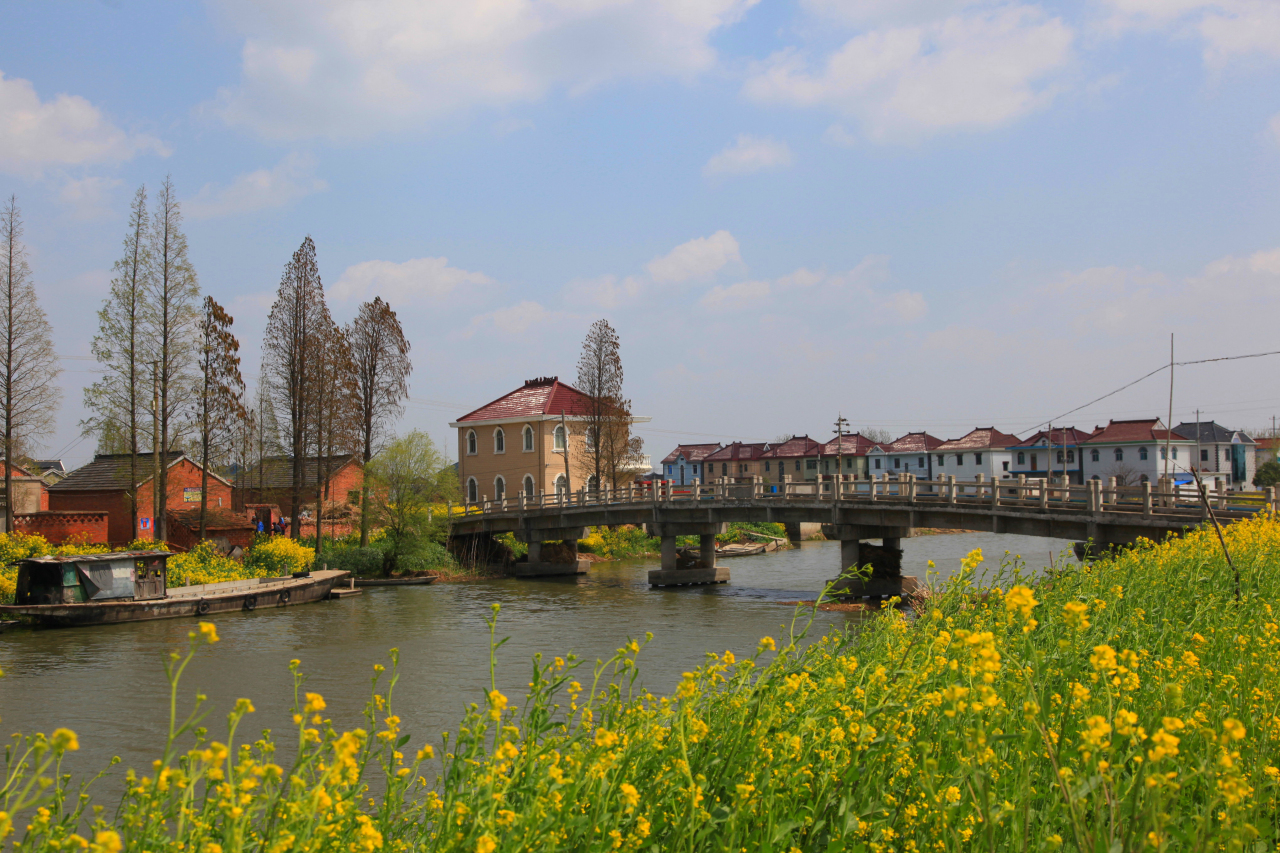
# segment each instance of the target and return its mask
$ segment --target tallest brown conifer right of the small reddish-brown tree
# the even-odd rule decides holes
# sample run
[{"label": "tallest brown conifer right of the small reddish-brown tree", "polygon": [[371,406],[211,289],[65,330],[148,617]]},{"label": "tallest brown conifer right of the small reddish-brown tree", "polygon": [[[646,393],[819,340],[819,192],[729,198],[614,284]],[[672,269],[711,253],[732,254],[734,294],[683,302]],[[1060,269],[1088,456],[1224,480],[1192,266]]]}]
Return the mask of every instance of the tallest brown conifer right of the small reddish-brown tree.
[{"label": "tallest brown conifer right of the small reddish-brown tree", "polygon": [[282,443],[293,456],[289,488],[293,517],[289,521],[289,534],[294,539],[302,532],[298,507],[302,505],[302,478],[315,423],[314,362],[320,334],[325,324],[332,321],[328,318],[320,268],[316,264],[316,245],[307,236],[284,265],[262,341],[262,373],[271,389],[271,401],[288,415],[279,428]]}]

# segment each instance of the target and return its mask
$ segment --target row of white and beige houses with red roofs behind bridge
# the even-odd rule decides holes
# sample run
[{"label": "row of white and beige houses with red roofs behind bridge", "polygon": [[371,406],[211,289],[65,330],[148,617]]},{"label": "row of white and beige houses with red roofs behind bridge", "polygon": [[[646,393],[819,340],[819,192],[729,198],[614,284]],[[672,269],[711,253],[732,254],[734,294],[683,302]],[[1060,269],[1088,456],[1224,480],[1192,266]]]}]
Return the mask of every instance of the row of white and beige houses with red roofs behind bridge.
[{"label": "row of white and beige houses with red roofs behind bridge", "polygon": [[979,426],[950,441],[908,433],[886,443],[855,433],[828,442],[796,435],[776,443],[680,444],[662,460],[662,476],[676,484],[753,476],[799,482],[837,473],[849,479],[902,474],[925,480],[1068,476],[1073,483],[1114,476],[1121,485],[1135,485],[1155,482],[1166,471],[1176,480],[1196,470],[1215,485],[1242,491],[1252,488],[1257,464],[1258,442],[1242,430],[1199,421],[1169,432],[1158,418],[1148,418],[1112,420],[1092,430],[1044,429],[1029,438]]}]

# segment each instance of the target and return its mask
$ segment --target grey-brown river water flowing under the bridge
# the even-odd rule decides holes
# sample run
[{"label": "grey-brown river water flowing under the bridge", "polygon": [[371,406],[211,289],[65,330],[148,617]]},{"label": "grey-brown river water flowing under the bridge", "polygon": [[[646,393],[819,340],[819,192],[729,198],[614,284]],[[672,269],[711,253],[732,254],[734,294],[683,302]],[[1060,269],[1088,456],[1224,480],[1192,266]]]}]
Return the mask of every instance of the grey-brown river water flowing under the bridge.
[{"label": "grey-brown river water flowing under the bridge", "polygon": [[[1043,566],[1069,546],[989,533],[919,537],[904,540],[904,574],[923,580],[925,562],[933,560],[945,579],[973,548],[992,562],[1009,549]],[[223,615],[215,620],[221,640],[201,649],[188,667],[179,708],[189,708],[197,689],[207,694],[206,725],[216,736],[225,731],[225,712],[247,697],[257,711],[242,725],[241,739],[264,727],[280,731],[288,727],[292,702],[288,662],[298,658],[307,689],[325,697],[334,725],[362,725],[371,667],[387,663],[388,649],[397,647],[394,707],[402,729],[413,744],[438,743],[442,731],[456,730],[465,706],[483,701],[488,689],[484,619],[494,602],[502,605],[498,635],[511,638],[498,654],[498,685],[508,695],[521,695],[538,652],[576,652],[588,661],[579,678],[590,684],[590,662],[608,657],[627,638],[643,639],[645,631],[654,638],[641,654],[643,681],[668,693],[705,652],[750,653],[762,637],[786,637],[783,625],[794,607],[783,602],[813,599],[836,575],[837,562],[838,543],[806,542],[791,551],[726,560],[732,580],[714,587],[653,589],[646,573],[655,561],[626,560],[595,564],[577,580],[366,589],[344,601]],[[856,619],[819,612],[813,633]],[[164,660],[186,644],[193,626],[163,620],[0,634],[0,731],[67,726],[81,743],[69,768],[97,771],[113,756],[120,756],[124,767],[150,768],[168,725]],[[108,783],[108,790],[114,788]]]}]

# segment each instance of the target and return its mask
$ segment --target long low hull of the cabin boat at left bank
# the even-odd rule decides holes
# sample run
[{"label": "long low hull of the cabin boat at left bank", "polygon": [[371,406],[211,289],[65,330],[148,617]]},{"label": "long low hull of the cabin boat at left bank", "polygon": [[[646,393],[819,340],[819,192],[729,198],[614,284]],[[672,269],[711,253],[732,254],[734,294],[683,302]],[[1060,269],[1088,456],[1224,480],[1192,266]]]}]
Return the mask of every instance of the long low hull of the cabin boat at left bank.
[{"label": "long low hull of the cabin boat at left bank", "polygon": [[0,617],[27,616],[51,628],[145,622],[152,619],[214,616],[251,610],[292,607],[324,601],[347,571],[314,571],[308,578],[255,578],[201,587],[178,587],[152,601],[106,601],[82,605],[13,605]]}]

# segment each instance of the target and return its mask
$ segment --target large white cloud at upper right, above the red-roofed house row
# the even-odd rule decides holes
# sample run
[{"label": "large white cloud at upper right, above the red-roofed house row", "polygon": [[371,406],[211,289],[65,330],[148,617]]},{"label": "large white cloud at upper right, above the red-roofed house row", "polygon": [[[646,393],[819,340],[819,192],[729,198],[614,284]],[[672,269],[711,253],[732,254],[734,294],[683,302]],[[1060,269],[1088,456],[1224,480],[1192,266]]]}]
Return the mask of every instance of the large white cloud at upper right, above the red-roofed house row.
[{"label": "large white cloud at upper right, above the red-roofed house row", "polygon": [[[998,5],[868,29],[819,63],[795,49],[780,51],[744,91],[762,102],[850,115],[878,141],[984,129],[1048,104],[1073,41],[1068,24],[1038,8]],[[828,133],[841,134],[847,137]]]}]

